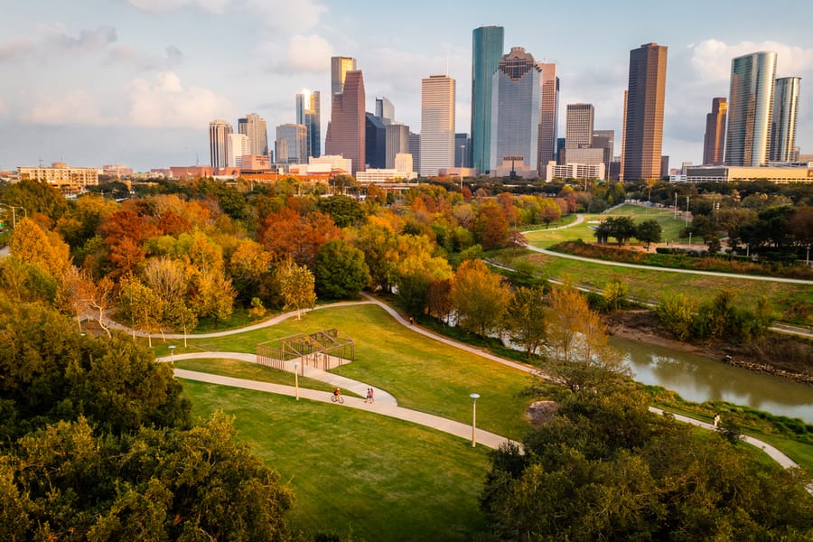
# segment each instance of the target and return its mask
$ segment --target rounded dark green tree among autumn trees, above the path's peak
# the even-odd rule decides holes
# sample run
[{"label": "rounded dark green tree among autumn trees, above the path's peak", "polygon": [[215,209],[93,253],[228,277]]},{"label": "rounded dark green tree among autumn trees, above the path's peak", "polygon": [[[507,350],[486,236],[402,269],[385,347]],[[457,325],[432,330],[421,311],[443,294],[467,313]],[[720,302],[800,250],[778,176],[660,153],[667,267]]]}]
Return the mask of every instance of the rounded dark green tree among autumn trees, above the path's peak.
[{"label": "rounded dark green tree among autumn trees, above the path's peak", "polygon": [[341,299],[358,295],[369,285],[364,253],[342,240],[325,243],[316,253],[313,276],[320,296]]}]

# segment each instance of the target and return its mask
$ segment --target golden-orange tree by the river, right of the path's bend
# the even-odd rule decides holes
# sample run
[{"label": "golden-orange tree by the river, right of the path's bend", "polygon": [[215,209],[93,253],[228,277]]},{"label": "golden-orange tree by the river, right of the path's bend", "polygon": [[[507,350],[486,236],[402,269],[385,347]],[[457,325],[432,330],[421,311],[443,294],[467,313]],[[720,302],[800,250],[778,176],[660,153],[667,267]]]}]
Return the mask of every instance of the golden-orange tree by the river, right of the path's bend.
[{"label": "golden-orange tree by the river, right of the path's bend", "polygon": [[452,303],[459,325],[485,337],[501,331],[510,293],[502,277],[491,273],[482,260],[466,260],[454,273]]}]

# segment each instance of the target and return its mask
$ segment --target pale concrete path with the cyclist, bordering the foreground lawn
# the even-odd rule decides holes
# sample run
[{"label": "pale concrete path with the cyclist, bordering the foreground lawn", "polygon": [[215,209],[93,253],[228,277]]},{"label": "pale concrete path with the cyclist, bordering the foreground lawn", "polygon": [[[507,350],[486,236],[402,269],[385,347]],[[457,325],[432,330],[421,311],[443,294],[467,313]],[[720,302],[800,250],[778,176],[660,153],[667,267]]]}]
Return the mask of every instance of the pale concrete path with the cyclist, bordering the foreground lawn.
[{"label": "pale concrete path with the cyclist, bordering the foreground lawn", "polygon": [[[231,388],[253,389],[256,391],[276,393],[289,397],[295,397],[296,395],[296,389],[294,386],[257,382],[256,380],[247,380],[245,378],[221,377],[219,375],[211,375],[209,373],[201,373],[186,369],[174,369],[174,371],[176,378],[207,382],[210,384],[218,384],[220,386],[229,386]],[[316,391],[314,389],[299,388],[299,397],[311,401],[319,401],[321,403],[331,403],[332,393],[329,391]],[[410,410],[401,406],[389,405],[378,401],[371,404],[365,403],[364,399],[359,397],[344,397],[344,405],[337,404],[336,406],[347,406],[350,408],[357,408],[359,410],[367,410],[380,416],[389,416],[399,420],[404,420],[406,422],[412,422],[413,424],[431,427],[438,431],[448,433],[449,435],[455,435],[469,440],[472,438],[472,425],[461,424],[460,422],[455,422],[444,417],[425,414],[424,412]],[[504,436],[495,435],[481,429],[476,430],[475,436],[475,440],[478,444],[482,444],[483,446],[492,449],[499,448],[503,443],[516,444],[520,448],[522,446],[516,441],[511,441]]]}]

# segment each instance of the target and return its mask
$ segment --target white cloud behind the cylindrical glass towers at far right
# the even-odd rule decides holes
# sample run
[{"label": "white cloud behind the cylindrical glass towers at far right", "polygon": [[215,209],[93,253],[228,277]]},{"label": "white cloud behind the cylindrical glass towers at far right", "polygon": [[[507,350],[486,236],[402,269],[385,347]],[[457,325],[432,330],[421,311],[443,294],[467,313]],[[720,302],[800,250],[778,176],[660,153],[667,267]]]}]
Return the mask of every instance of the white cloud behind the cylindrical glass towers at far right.
[{"label": "white cloud behind the cylindrical glass towers at far right", "polygon": [[813,69],[813,48],[786,45],[780,42],[739,42],[728,44],[717,40],[692,43],[692,65],[699,77],[707,80],[727,80],[731,76],[732,59],[756,51],[777,52],[777,77],[799,75]]}]

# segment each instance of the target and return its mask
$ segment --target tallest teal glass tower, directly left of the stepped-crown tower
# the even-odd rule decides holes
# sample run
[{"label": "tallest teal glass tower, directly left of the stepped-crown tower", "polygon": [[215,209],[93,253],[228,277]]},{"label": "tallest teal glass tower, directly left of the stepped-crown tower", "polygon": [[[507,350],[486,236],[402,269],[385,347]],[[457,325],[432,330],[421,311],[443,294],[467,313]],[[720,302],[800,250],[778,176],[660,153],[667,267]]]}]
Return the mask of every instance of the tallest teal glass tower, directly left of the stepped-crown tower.
[{"label": "tallest teal glass tower, directly left of the stepped-crown tower", "polygon": [[472,167],[491,169],[491,75],[502,58],[505,29],[481,26],[472,32]]}]

